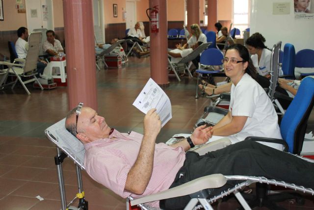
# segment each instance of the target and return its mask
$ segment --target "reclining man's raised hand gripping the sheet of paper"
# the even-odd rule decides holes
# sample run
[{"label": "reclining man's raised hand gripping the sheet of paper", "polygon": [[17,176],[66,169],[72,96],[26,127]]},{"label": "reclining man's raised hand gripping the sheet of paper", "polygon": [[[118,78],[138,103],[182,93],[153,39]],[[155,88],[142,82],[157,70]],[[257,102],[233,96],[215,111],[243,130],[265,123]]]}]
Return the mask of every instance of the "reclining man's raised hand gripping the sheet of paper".
[{"label": "reclining man's raised hand gripping the sheet of paper", "polygon": [[151,109],[144,117],[144,135],[153,135],[157,137],[161,129],[161,120],[156,109]]}]

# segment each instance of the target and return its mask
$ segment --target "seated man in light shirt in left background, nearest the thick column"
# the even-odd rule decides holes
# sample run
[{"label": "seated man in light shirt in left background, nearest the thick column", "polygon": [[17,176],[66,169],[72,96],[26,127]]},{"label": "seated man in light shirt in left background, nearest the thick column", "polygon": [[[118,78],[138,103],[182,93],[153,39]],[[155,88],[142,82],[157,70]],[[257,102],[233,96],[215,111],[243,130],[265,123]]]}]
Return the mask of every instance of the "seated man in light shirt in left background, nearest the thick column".
[{"label": "seated man in light shirt in left background, nearest the thick column", "polygon": [[63,53],[61,42],[55,39],[54,31],[47,30],[46,35],[47,40],[45,40],[43,43],[44,53],[48,53],[50,56],[58,56],[59,53]]}]

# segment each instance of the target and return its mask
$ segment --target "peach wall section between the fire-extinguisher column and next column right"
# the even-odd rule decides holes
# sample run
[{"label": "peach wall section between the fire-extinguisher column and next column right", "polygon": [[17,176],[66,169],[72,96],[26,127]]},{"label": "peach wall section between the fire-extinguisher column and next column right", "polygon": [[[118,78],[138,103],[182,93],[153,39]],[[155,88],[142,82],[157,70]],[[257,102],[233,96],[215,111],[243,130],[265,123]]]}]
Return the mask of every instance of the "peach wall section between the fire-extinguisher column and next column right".
[{"label": "peach wall section between the fire-extinguisher column and next column right", "polygon": [[168,21],[184,20],[184,0],[167,0]]}]

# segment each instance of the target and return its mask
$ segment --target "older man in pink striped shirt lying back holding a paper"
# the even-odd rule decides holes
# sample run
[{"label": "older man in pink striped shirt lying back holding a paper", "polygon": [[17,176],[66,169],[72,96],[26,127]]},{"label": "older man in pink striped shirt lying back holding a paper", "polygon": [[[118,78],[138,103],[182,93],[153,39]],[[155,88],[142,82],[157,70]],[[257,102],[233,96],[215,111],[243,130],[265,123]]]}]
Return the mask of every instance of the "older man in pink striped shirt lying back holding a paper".
[{"label": "older man in pink striped shirt lying back holding a paper", "polygon": [[[156,144],[161,121],[156,109],[144,118],[144,135],[120,133],[89,107],[77,107],[67,115],[65,126],[85,147],[86,172],[99,183],[126,198],[153,194],[210,174],[263,176],[314,187],[314,164],[253,141],[199,155],[189,151],[211,137],[205,126],[172,146]],[[217,194],[235,181],[213,189]],[[183,209],[189,196],[150,203],[164,210]]]}]

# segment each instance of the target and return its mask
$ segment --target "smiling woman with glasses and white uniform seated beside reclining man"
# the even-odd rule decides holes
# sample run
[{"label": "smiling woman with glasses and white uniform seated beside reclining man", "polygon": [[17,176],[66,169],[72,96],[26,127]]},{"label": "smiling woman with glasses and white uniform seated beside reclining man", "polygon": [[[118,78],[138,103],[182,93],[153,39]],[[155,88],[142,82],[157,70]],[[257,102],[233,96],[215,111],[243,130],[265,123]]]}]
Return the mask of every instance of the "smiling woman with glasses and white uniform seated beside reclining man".
[{"label": "smiling woman with glasses and white uniform seated beside reclining man", "polygon": [[[278,117],[265,90],[253,79],[257,73],[248,50],[235,44],[223,60],[226,76],[232,81],[228,114],[212,127],[212,135],[228,136],[234,144],[248,136],[282,139]],[[253,78],[252,78],[253,77]],[[282,150],[282,145],[262,143]]]}]

